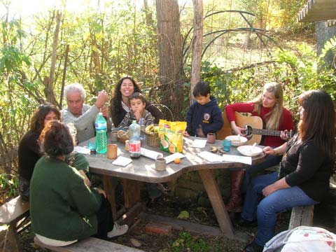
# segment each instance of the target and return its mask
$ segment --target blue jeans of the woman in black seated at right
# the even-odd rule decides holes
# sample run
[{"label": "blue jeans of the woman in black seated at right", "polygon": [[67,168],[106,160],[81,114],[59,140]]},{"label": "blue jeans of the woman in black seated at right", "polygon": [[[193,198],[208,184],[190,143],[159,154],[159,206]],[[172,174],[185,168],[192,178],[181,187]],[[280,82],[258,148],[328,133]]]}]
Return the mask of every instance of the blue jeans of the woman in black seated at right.
[{"label": "blue jeans of the woman in black seated at right", "polygon": [[276,214],[298,206],[317,204],[298,186],[277,190],[262,199],[262,189],[278,180],[278,173],[257,176],[248,186],[241,217],[246,221],[258,221],[255,243],[264,246],[274,236]]}]

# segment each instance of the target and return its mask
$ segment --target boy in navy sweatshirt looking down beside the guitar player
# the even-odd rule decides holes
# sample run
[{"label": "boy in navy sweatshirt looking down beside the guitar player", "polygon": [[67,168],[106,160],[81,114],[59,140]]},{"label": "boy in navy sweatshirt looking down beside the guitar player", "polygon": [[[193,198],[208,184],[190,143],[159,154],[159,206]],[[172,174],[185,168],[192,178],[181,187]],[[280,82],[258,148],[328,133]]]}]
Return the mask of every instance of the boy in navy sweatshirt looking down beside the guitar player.
[{"label": "boy in navy sweatshirt looking down beside the guitar player", "polygon": [[210,96],[209,83],[199,81],[193,90],[196,102],[190,105],[186,114],[187,128],[185,137],[207,137],[208,133],[216,133],[223,127],[221,109],[216,98]]}]

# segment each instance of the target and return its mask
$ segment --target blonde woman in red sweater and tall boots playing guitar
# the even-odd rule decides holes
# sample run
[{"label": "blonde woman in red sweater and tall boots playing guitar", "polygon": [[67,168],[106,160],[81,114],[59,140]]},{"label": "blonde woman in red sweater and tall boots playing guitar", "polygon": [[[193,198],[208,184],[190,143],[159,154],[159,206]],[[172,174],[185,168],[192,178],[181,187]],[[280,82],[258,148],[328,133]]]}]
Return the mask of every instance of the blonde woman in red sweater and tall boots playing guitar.
[{"label": "blonde woman in red sweater and tall boots playing guitar", "polygon": [[[288,109],[283,107],[283,90],[279,83],[266,83],[260,97],[254,99],[252,102],[230,104],[225,107],[226,116],[228,116],[232,130],[235,134],[244,136],[245,129],[238,127],[235,122],[236,111],[251,113],[251,116],[259,116],[262,119],[264,128],[267,130],[286,132],[294,129],[292,114]],[[285,138],[285,134],[281,134],[281,137]],[[264,136],[260,145],[276,148],[285,142],[281,137]],[[281,156],[267,156],[265,162],[248,167],[246,169],[244,185],[247,186],[251,174],[279,164],[280,161]],[[241,209],[240,187],[244,179],[244,173],[244,169],[230,172],[231,196],[228,204],[226,204],[228,211],[239,211]]]}]

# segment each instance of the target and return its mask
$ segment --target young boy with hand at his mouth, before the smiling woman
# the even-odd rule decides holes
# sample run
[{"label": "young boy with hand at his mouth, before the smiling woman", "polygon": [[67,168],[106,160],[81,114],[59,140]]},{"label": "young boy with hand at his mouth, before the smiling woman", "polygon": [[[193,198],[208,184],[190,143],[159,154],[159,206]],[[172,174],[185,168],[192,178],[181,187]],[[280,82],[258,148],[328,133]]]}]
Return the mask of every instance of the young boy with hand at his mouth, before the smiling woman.
[{"label": "young boy with hand at his mouth, before the smiling woman", "polygon": [[134,92],[130,97],[131,111],[128,112],[118,127],[129,127],[133,120],[137,120],[140,126],[148,126],[154,123],[151,113],[146,111],[146,99],[143,94]]}]

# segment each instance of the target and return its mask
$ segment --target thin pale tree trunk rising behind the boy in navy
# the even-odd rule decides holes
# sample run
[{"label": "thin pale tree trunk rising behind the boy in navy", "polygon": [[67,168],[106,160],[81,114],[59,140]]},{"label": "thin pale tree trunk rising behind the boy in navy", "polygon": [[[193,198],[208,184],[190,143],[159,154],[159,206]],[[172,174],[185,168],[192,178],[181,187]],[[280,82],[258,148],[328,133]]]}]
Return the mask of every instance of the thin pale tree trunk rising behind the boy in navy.
[{"label": "thin pale tree trunk rising behind the boy in navy", "polygon": [[194,5],[194,36],[193,59],[191,62],[190,104],[193,102],[193,90],[201,78],[202,38],[203,38],[203,1],[193,0]]}]

